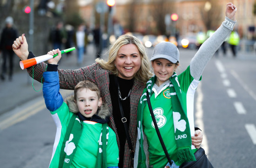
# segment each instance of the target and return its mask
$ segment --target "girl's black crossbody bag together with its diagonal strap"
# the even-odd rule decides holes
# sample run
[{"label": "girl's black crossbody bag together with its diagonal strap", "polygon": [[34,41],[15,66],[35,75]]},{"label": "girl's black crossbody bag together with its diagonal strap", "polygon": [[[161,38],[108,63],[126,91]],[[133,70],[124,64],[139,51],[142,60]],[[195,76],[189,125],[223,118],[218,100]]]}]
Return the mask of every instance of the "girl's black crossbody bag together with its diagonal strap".
[{"label": "girl's black crossbody bag together with its diagonal strap", "polygon": [[[158,136],[158,138],[159,138],[159,140],[161,142],[162,148],[163,148],[164,153],[165,153],[165,155],[166,155],[166,157],[168,159],[168,162],[170,164],[172,164],[170,156],[169,156],[169,154],[167,152],[167,149],[166,149],[166,147],[165,147],[165,145],[163,143],[160,131],[159,131],[158,127],[157,127],[157,123],[155,121],[155,116],[154,116],[154,113],[153,113],[152,106],[151,106],[150,99],[149,99],[148,95],[149,94],[148,94],[148,91],[147,91],[148,108],[149,108],[152,120],[154,122],[154,125],[155,125],[155,130],[156,130],[157,136]],[[184,163],[182,163],[180,168],[213,168],[212,164],[210,163],[210,161],[207,158],[207,155],[205,155],[204,149],[199,148],[197,151],[195,151],[194,155],[195,155],[196,161],[184,162]]]}]

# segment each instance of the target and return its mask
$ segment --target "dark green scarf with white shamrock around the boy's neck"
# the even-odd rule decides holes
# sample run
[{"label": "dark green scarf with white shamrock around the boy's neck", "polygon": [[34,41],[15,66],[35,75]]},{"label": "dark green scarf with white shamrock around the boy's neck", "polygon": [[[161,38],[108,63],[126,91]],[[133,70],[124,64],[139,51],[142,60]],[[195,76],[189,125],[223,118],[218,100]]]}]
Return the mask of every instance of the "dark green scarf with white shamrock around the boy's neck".
[{"label": "dark green scarf with white shamrock around the boy's neck", "polygon": [[[59,168],[70,168],[71,166],[83,130],[83,125],[81,122],[82,121],[76,115],[73,115],[70,119],[61,146]],[[96,168],[107,168],[106,148],[109,134],[107,125],[107,123],[102,124]]]}]

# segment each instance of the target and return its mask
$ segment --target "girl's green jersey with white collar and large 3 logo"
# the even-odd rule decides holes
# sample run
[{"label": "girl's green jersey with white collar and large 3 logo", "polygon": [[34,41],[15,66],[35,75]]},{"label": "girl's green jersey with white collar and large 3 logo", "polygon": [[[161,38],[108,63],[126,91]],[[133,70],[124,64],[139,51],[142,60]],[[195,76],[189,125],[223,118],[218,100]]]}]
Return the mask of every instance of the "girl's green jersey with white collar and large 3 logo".
[{"label": "girl's green jersey with white collar and large 3 logo", "polygon": [[[191,104],[193,105],[193,103],[187,103],[187,101],[194,100],[195,89],[199,81],[196,81],[194,78],[192,78],[189,68],[178,76],[178,81],[181,85],[182,101],[185,113],[187,115],[187,107],[188,109],[194,108],[189,107]],[[174,86],[172,84],[166,84],[158,93],[156,93],[153,89],[150,102],[155,115],[156,123],[158,125],[168,154],[176,165],[181,165],[182,163],[178,162],[178,157],[176,155],[177,146],[175,139],[186,137],[175,137],[175,126],[170,96],[172,93],[170,92],[170,87]],[[148,105],[146,105],[143,109],[143,130],[147,136],[148,142],[149,168],[163,168],[168,163],[168,160],[156,134],[155,126],[152,121],[152,117],[150,116]],[[195,151],[196,149],[193,150],[194,153]]]}]

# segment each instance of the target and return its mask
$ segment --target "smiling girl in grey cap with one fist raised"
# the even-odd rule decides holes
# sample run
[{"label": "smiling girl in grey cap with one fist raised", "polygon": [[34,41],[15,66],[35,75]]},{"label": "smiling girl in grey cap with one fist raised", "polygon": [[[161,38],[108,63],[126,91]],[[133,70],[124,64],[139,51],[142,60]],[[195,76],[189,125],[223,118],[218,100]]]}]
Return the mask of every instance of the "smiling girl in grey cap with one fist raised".
[{"label": "smiling girl in grey cap with one fist raised", "polygon": [[[226,19],[216,32],[207,39],[192,58],[189,67],[180,75],[175,73],[179,65],[179,50],[170,42],[155,46],[150,59],[155,75],[147,82],[138,106],[138,168],[164,168],[168,159],[159,143],[155,125],[147,103],[147,91],[157,126],[170,159],[180,166],[195,161],[197,149],[191,149],[191,134],[187,111],[193,111],[194,94],[201,80],[202,71],[212,55],[229,36],[235,21],[236,6],[227,4]],[[144,133],[144,135],[143,135]],[[146,136],[146,137],[145,137]],[[149,163],[143,149],[147,140]],[[138,151],[139,150],[139,151]],[[136,164],[135,164],[136,166]]]}]

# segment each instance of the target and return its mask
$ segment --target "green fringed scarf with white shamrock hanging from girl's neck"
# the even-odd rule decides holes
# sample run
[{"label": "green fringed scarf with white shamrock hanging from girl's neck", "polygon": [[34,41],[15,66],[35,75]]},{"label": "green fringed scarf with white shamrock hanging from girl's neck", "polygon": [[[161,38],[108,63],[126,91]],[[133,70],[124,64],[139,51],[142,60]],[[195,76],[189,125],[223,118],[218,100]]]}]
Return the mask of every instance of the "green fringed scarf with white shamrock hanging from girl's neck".
[{"label": "green fringed scarf with white shamrock hanging from girl's neck", "polygon": [[[185,108],[182,105],[182,92],[180,89],[180,84],[178,81],[178,77],[176,73],[172,75],[171,78],[169,78],[170,83],[173,84],[174,87],[170,88],[171,94],[171,102],[172,102],[172,108],[173,108],[173,114],[179,113],[179,115],[173,115],[174,121],[177,119],[185,120],[186,122],[186,129],[182,132],[179,129],[175,130],[176,137],[182,136],[184,134],[187,135],[188,138],[178,138],[175,139],[176,145],[177,145],[177,157],[179,158],[179,161],[182,162],[189,162],[189,161],[196,161],[195,155],[193,154],[191,150],[191,135],[190,135],[190,129],[189,129],[189,121],[188,117],[185,114]],[[148,108],[147,103],[147,90],[149,93],[149,97],[151,97],[152,88],[155,84],[156,77],[153,76],[146,84],[146,88],[143,90],[143,94],[140,99],[140,103],[138,105],[138,138],[140,142],[140,149],[139,149],[139,155],[138,155],[138,168],[144,168],[146,167],[146,155],[143,150],[143,130],[142,130],[142,122],[143,122],[143,110],[144,108]],[[175,118],[179,117],[179,118]],[[172,158],[171,158],[172,159]]]}]

